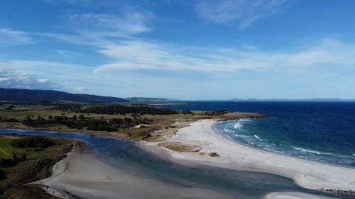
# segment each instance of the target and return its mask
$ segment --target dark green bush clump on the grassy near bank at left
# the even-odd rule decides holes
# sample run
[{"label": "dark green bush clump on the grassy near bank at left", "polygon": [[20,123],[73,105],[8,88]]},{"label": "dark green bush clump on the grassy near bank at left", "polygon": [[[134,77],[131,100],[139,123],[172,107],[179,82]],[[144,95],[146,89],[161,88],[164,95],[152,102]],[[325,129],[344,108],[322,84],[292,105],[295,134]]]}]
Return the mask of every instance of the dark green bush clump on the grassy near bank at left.
[{"label": "dark green bush clump on the grassy near bank at left", "polygon": [[42,148],[45,149],[54,144],[54,142],[48,140],[45,137],[23,137],[18,140],[13,140],[11,145],[13,147],[23,147],[23,148]]}]

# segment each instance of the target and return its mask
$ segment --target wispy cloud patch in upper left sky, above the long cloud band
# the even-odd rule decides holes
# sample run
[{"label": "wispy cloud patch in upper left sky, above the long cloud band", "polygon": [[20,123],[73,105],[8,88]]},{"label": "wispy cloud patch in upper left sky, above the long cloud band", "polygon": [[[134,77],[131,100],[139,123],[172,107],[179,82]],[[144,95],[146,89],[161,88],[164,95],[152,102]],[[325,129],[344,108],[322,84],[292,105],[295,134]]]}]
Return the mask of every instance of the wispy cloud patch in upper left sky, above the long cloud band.
[{"label": "wispy cloud patch in upper left sky, above the long cloud band", "polygon": [[116,14],[72,13],[61,18],[63,27],[70,33],[36,33],[35,35],[76,45],[99,47],[151,31],[149,24],[153,21],[153,13],[125,8],[124,11]]}]

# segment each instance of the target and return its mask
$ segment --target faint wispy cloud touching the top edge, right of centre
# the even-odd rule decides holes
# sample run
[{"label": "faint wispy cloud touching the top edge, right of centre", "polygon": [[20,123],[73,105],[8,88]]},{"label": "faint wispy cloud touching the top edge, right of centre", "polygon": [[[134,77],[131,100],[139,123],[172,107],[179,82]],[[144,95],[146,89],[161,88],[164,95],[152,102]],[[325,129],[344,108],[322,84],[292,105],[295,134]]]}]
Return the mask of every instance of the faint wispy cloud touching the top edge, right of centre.
[{"label": "faint wispy cloud touching the top edge, right of centre", "polygon": [[207,0],[197,1],[198,15],[215,23],[237,23],[244,28],[268,18],[290,5],[290,0]]}]

